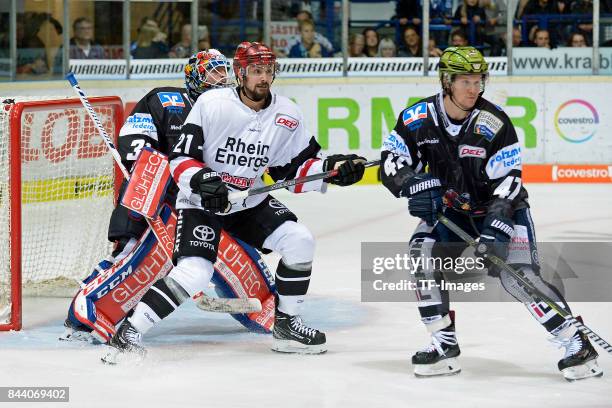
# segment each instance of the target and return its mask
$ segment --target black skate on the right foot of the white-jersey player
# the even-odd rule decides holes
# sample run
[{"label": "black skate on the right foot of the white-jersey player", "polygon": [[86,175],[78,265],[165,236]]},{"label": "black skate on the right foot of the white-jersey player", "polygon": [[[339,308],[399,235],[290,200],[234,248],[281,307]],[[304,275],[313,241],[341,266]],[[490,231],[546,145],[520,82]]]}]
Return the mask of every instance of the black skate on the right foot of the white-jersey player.
[{"label": "black skate on the right foot of the white-jersey player", "polygon": [[300,316],[276,309],[272,350],[281,353],[321,354],[327,351],[325,333],[305,326]]}]

